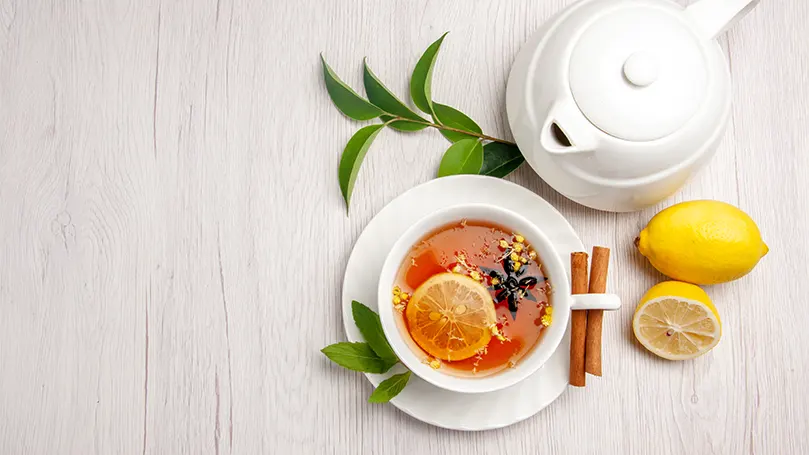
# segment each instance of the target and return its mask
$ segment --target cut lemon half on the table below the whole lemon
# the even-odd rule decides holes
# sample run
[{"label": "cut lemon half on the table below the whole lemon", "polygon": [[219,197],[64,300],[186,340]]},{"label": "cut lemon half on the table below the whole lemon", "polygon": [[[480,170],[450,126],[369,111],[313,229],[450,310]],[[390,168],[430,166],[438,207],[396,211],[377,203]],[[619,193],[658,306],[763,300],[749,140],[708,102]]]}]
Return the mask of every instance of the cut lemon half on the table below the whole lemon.
[{"label": "cut lemon half on the table below the whole lemon", "polygon": [[669,360],[699,357],[722,336],[722,321],[708,294],[680,281],[649,289],[635,310],[632,328],[646,349]]}]

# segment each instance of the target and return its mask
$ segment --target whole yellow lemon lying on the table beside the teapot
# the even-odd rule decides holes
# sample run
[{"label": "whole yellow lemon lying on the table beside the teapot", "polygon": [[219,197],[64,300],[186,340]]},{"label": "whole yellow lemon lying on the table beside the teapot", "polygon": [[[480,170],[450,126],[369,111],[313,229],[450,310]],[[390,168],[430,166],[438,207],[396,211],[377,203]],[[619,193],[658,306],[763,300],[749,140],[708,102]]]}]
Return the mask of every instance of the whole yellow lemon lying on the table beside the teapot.
[{"label": "whole yellow lemon lying on the table beside the teapot", "polygon": [[741,278],[769,251],[746,213],[707,200],[683,202],[658,213],[635,244],[664,275],[696,284]]}]

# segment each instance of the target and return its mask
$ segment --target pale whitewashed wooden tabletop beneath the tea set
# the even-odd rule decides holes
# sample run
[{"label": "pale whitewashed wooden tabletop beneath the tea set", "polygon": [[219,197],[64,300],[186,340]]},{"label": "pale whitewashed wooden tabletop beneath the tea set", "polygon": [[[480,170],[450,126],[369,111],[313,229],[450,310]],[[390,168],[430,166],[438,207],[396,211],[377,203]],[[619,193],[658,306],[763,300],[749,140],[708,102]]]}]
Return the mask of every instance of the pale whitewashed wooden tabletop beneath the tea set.
[{"label": "pale whitewashed wooden tabletop beneath the tea set", "polygon": [[[407,93],[444,31],[436,99],[510,137],[520,45],[572,0],[0,0],[0,453],[799,454],[809,452],[809,2],[770,0],[722,39],[732,124],[660,207],[610,214],[524,166],[510,177],[613,247],[605,375],[536,417],[460,433],[365,402],[342,340],[343,269],[386,203],[434,176],[434,131],[386,131],[346,217],[318,54],[361,87],[368,56]],[[756,219],[770,254],[708,291],[709,355],[634,341],[662,277],[632,247],[661,207],[711,198]],[[369,273],[375,273],[369,270]]]}]

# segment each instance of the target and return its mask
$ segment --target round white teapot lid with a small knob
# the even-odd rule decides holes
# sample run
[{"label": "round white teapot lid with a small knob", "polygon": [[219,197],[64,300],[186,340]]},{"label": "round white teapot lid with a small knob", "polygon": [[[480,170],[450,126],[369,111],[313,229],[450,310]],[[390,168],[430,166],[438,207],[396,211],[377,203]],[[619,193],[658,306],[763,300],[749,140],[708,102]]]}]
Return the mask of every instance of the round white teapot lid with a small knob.
[{"label": "round white teapot lid with a small knob", "polygon": [[605,133],[653,141],[680,129],[705,98],[703,45],[682,14],[642,4],[607,12],[583,30],[570,57],[570,90]]}]

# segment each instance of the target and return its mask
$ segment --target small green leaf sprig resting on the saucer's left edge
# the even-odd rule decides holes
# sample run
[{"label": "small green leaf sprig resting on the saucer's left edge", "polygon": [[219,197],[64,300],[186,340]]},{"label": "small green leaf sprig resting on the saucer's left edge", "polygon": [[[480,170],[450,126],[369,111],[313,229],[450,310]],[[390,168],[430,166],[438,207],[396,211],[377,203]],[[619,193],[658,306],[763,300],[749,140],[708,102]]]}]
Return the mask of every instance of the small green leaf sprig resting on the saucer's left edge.
[{"label": "small green leaf sprig resting on the saucer's left edge", "polygon": [[[367,127],[366,127],[367,128]],[[356,300],[351,302],[354,323],[365,338],[365,343],[335,343],[321,350],[332,362],[353,371],[364,373],[387,373],[399,359],[390,347],[379,315]],[[410,380],[410,371],[385,379],[368,398],[369,403],[386,403],[404,390]]]}]

